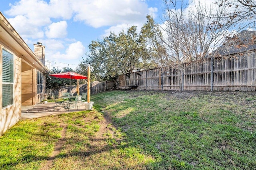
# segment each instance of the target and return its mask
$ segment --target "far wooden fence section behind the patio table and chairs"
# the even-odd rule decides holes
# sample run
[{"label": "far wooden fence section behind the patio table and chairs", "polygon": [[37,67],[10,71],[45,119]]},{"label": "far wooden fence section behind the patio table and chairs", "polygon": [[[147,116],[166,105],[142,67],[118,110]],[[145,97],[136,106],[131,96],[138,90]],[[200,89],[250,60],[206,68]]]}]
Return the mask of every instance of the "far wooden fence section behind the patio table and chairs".
[{"label": "far wooden fence section behind the patio table and chairs", "polygon": [[[104,92],[107,90],[113,90],[116,88],[116,82],[112,81],[104,81],[104,82],[92,82],[91,88],[90,88],[90,94],[96,94],[100,92]],[[62,95],[62,92],[70,92],[70,86],[61,86],[58,90],[59,96]],[[79,87],[80,95],[82,95],[82,92],[87,92],[87,84],[80,85]],[[71,86],[71,93],[73,95],[77,94],[77,86]]]}]

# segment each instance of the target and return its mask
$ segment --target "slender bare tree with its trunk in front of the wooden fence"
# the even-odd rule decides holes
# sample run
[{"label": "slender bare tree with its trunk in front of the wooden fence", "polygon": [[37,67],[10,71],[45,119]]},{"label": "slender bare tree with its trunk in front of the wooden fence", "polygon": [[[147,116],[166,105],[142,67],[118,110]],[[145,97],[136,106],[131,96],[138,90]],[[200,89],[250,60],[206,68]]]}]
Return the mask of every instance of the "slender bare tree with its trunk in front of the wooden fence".
[{"label": "slender bare tree with its trunk in front of the wooden fence", "polygon": [[[187,2],[187,1],[186,1]],[[160,37],[170,59],[170,66],[180,75],[180,89],[182,82],[182,63],[186,61],[190,51],[184,46],[186,41],[185,10],[189,4],[185,0],[164,0],[165,10]]]}]

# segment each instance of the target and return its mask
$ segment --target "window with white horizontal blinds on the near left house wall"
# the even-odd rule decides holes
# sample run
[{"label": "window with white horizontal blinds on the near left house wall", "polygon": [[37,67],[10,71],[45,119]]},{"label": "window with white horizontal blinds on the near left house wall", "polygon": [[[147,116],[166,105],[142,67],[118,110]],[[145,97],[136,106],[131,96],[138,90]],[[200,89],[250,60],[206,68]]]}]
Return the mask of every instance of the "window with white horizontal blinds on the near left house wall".
[{"label": "window with white horizontal blinds on the near left house wall", "polygon": [[13,104],[13,55],[3,49],[3,95],[2,107]]}]

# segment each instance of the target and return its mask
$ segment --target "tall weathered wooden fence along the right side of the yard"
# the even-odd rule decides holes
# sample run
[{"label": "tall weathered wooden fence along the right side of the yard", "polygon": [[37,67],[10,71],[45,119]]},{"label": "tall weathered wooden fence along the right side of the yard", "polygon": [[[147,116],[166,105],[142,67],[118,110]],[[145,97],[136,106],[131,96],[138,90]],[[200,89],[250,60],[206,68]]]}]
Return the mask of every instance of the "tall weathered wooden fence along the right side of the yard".
[{"label": "tall weathered wooden fence along the right side of the yard", "polygon": [[156,68],[120,75],[117,88],[137,85],[144,90],[256,91],[255,51],[229,57],[207,58],[176,68]]}]

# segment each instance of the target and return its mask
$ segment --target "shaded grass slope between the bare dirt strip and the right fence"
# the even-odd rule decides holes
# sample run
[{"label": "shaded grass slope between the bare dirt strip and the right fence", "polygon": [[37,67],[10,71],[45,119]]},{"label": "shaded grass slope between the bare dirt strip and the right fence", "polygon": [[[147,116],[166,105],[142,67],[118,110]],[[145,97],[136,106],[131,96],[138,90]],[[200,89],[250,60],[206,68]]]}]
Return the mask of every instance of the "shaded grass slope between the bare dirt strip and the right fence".
[{"label": "shaded grass slope between the bare dirt strip and the right fence", "polygon": [[248,103],[255,92],[177,94],[120,91],[115,102],[112,92],[95,98],[126,133],[129,146],[154,158],[146,168],[256,167],[256,103]]}]

